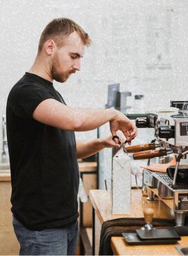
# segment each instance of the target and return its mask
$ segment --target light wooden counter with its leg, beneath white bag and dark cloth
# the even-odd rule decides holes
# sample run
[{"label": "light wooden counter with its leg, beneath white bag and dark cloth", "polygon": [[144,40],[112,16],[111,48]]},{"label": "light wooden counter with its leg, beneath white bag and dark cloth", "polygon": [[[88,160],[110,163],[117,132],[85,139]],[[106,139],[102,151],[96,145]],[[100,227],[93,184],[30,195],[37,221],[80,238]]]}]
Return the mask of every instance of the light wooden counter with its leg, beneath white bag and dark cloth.
[{"label": "light wooden counter with its leg, beneath white bag and dark cloth", "polygon": [[[140,218],[144,217],[143,210],[151,207],[154,210],[154,218],[174,219],[174,213],[159,198],[156,201],[147,201],[146,196],[142,196],[140,190],[131,190],[131,214],[113,215],[111,207],[111,195],[105,190],[91,190],[90,199],[93,205],[93,229],[95,235],[93,239],[93,254],[98,255],[100,244],[100,231],[102,223],[118,218]],[[111,248],[114,255],[179,255],[176,246],[188,245],[188,237],[181,237],[177,244],[153,245],[153,246],[130,246],[126,244],[123,237],[112,237]]]}]

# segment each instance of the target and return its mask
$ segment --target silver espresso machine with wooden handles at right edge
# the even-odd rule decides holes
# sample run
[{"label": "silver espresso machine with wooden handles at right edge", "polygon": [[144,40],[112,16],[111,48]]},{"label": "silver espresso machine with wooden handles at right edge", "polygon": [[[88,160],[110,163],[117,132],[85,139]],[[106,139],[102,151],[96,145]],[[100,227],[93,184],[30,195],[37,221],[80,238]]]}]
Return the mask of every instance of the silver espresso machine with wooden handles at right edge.
[{"label": "silver espresso machine with wooden handles at right edge", "polygon": [[[147,199],[156,200],[156,195],[164,201],[174,211],[176,226],[184,225],[185,215],[188,213],[188,165],[180,165],[181,159],[186,159],[188,154],[187,109],[138,116],[135,125],[138,128],[153,129],[155,139],[151,144],[142,145],[140,150],[135,150],[135,153],[133,153],[134,149],[129,151],[133,153],[134,160],[150,161],[154,157],[176,155],[176,165],[171,166],[171,169],[168,168],[167,173],[143,170],[143,185],[147,188]],[[182,170],[182,167],[185,170]]]}]

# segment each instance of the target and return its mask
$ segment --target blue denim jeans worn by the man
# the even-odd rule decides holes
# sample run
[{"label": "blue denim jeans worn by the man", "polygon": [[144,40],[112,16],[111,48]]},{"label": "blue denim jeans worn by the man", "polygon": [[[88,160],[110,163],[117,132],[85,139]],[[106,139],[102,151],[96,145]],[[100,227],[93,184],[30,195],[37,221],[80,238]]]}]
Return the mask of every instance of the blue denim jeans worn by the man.
[{"label": "blue denim jeans worn by the man", "polygon": [[75,255],[79,237],[77,219],[64,228],[31,231],[13,215],[12,224],[20,244],[19,255]]}]

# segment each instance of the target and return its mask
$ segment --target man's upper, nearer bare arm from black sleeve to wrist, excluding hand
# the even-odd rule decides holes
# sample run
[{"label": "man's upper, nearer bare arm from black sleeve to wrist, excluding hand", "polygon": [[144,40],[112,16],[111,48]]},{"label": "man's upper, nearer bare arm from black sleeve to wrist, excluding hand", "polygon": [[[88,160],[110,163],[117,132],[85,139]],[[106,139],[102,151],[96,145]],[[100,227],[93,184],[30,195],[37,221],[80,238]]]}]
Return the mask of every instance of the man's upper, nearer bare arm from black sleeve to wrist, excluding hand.
[{"label": "man's upper, nearer bare arm from black sleeve to wrist, excluding hand", "polygon": [[113,120],[117,113],[115,109],[76,109],[48,99],[35,109],[33,118],[60,129],[89,131]]}]

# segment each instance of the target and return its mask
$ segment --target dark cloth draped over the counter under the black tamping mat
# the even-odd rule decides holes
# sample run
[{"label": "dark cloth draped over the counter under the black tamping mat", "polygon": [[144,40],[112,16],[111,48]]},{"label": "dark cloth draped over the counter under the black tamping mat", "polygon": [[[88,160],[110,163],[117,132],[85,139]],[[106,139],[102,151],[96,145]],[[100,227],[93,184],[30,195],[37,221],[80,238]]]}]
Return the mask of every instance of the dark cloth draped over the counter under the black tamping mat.
[{"label": "dark cloth draped over the counter under the black tamping mat", "polygon": [[[172,228],[178,235],[188,235],[188,217],[185,217],[185,226],[175,227],[174,219],[153,218],[152,224],[155,228]],[[111,250],[111,237],[122,237],[122,232],[136,232],[145,225],[144,218],[120,218],[105,221],[100,233],[99,255],[113,255]]]}]

